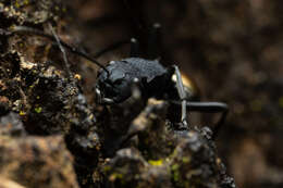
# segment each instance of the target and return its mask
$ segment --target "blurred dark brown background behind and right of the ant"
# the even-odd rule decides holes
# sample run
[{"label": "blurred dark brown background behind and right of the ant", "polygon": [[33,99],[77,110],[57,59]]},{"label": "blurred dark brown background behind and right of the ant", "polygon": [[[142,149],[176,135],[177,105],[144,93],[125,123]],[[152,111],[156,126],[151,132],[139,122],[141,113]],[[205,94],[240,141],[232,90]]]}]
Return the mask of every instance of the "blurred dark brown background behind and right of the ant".
[{"label": "blurred dark brown background behind and right of the ant", "polygon": [[[69,11],[62,33],[95,53],[133,36],[144,41],[143,30],[161,23],[164,63],[177,64],[189,75],[202,100],[230,105],[217,146],[236,185],[283,187],[283,2],[128,1],[65,1]],[[99,61],[127,55],[124,46]],[[89,65],[82,71],[89,72],[85,82],[90,86],[94,72]],[[190,116],[198,125],[216,121],[210,115]]]}]

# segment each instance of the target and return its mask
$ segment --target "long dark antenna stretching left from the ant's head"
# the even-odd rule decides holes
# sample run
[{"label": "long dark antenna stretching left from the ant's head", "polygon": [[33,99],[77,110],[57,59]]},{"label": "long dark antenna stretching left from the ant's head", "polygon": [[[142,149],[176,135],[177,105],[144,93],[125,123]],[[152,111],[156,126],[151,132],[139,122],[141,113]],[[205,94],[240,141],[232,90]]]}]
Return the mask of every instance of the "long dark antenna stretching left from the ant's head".
[{"label": "long dark antenna stretching left from the ant's head", "polygon": [[[59,41],[59,43],[61,43],[61,47],[65,47],[67,48],[71,52],[77,54],[77,55],[81,55],[85,59],[87,59],[88,61],[97,64],[98,66],[100,66],[101,68],[103,68],[107,74],[109,75],[109,71],[106,68],[106,66],[103,66],[101,63],[99,63],[97,60],[95,60],[94,58],[91,58],[90,55],[88,55],[87,53],[76,49],[75,47],[71,47],[70,45],[65,43],[62,39],[60,39],[59,37],[56,37],[56,36],[52,36],[52,35],[49,35],[49,34],[46,34],[41,30],[38,30],[36,28],[30,28],[30,27],[26,27],[26,26],[12,26],[10,28],[9,32],[12,32],[12,33],[27,33],[27,34],[34,34],[34,35],[37,35],[37,36],[41,36],[41,37],[45,37],[45,38],[48,38],[52,41]],[[57,40],[58,38],[58,40]],[[61,49],[61,48],[60,48]],[[62,50],[61,50],[62,51]],[[62,51],[63,52],[63,51]]]}]

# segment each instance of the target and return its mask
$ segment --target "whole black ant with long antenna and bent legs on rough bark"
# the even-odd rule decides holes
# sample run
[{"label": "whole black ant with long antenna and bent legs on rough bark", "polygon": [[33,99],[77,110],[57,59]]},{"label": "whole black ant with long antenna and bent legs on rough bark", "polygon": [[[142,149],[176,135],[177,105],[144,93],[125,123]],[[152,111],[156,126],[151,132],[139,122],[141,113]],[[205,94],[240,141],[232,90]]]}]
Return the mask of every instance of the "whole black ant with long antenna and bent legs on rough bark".
[{"label": "whole black ant with long antenna and bent legs on rough bark", "polygon": [[[188,129],[186,112],[187,110],[189,112],[221,112],[222,116],[212,131],[212,138],[216,138],[219,129],[225,121],[229,111],[227,105],[222,102],[192,101],[192,99],[195,97],[192,92],[194,91],[194,88],[192,88],[192,86],[188,86],[188,88],[184,87],[179,67],[176,65],[172,65],[165,68],[160,64],[159,60],[157,59],[158,54],[155,54],[158,51],[158,49],[156,49],[158,47],[157,45],[152,45],[157,43],[155,42],[155,40],[157,40],[159,37],[157,36],[157,34],[159,34],[158,30],[160,29],[160,24],[155,24],[152,26],[151,34],[153,36],[151,36],[150,41],[148,41],[148,43],[151,43],[151,46],[148,48],[148,53],[151,54],[153,59],[139,58],[140,52],[138,41],[135,38],[132,38],[130,41],[127,41],[131,43],[130,58],[120,61],[110,61],[107,66],[103,66],[101,63],[89,57],[87,53],[82,52],[81,50],[63,42],[54,34],[51,25],[50,29],[52,32],[52,35],[48,35],[40,30],[25,26],[14,26],[11,27],[9,32],[35,34],[56,41],[59,45],[60,50],[64,54],[64,62],[69,73],[70,70],[67,66],[66,55],[63,47],[67,48],[71,52],[84,57],[100,66],[101,70],[99,70],[96,83],[96,96],[98,103],[113,104],[123,102],[132,96],[132,88],[135,85],[140,90],[142,97],[144,99],[148,99],[151,97],[157,99],[164,99],[168,100],[172,105],[181,106],[181,127],[179,127],[181,129]],[[98,52],[95,57],[108,52],[120,45],[124,45],[124,42],[108,47]],[[175,77],[175,79],[173,79],[173,77]]]}]

